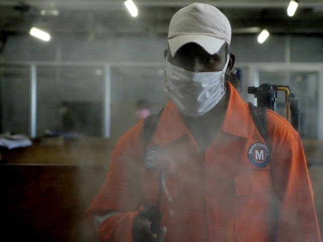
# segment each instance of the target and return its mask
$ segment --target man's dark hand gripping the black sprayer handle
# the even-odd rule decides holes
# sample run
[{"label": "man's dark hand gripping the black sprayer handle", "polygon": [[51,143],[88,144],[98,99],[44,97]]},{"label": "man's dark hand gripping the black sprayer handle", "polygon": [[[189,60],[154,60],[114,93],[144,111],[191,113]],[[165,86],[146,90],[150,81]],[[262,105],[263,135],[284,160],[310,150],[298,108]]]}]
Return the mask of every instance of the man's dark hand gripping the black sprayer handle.
[{"label": "man's dark hand gripping the black sprayer handle", "polygon": [[163,242],[166,227],[160,227],[161,212],[155,206],[144,208],[134,219],[132,234],[135,242]]}]

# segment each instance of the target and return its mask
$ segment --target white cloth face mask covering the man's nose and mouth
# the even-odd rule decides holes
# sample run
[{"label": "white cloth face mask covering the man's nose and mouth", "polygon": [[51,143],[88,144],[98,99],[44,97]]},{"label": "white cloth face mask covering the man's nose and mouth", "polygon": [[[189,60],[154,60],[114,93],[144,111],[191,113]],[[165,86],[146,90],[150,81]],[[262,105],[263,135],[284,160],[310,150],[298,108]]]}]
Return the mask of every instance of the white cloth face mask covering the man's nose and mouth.
[{"label": "white cloth face mask covering the man's nose and mouth", "polygon": [[164,90],[182,113],[201,116],[216,106],[225,94],[228,63],[229,56],[220,72],[190,72],[166,62]]}]

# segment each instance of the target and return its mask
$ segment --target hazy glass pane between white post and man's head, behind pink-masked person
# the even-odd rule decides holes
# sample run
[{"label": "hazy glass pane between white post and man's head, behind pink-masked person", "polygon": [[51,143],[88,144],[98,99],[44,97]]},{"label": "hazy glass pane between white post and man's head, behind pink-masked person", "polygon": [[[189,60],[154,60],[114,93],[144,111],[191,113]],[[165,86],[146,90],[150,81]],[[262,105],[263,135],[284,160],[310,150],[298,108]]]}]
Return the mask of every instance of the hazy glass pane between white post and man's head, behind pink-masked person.
[{"label": "hazy glass pane between white post and man's head, behind pink-masked person", "polygon": [[[138,120],[138,109],[149,105],[151,113],[166,105],[163,91],[165,67],[115,67],[111,77],[111,136],[116,141]],[[143,109],[142,109],[143,110]],[[141,115],[147,114],[144,111]],[[140,116],[140,113],[139,113]]]}]

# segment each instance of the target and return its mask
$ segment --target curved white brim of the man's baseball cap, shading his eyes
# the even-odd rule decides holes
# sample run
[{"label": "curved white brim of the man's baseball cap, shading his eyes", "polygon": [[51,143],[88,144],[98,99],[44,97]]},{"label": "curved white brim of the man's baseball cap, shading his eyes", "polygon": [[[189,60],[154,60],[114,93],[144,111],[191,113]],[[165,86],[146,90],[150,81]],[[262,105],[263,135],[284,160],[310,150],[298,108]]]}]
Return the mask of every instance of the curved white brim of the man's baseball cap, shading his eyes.
[{"label": "curved white brim of the man's baseball cap, shading his eyes", "polygon": [[209,35],[201,34],[185,34],[173,37],[168,40],[171,54],[174,57],[176,51],[187,43],[197,43],[202,46],[209,54],[215,54],[219,51],[222,45],[226,42],[224,39],[219,39]]}]

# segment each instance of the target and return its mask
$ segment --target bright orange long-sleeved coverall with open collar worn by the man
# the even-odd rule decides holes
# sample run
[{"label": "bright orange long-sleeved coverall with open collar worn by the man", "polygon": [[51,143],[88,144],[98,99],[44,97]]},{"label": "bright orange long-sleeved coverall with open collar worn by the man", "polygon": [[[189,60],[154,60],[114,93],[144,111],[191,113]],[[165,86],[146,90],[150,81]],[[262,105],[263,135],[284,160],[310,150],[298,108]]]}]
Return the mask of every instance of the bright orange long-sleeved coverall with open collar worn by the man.
[{"label": "bright orange long-sleeved coverall with open collar worn by the man", "polygon": [[[224,122],[205,154],[172,101],[148,144],[147,150],[158,147],[173,198],[161,197],[165,242],[320,241],[298,133],[268,110],[266,144],[247,103],[228,86]],[[159,171],[144,164],[142,126],[141,120],[117,143],[104,184],[86,211],[101,241],[133,241],[134,217],[143,205],[157,202]]]}]

